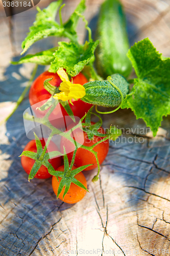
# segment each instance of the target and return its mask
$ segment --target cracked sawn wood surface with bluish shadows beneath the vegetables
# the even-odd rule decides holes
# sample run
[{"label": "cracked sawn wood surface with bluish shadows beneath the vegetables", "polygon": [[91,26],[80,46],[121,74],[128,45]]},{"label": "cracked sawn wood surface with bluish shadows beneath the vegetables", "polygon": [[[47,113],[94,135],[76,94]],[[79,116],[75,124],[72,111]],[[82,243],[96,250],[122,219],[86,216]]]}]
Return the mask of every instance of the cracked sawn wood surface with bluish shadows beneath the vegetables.
[{"label": "cracked sawn wood surface with bluish shadows beneath the vegetables", "polygon": [[[66,1],[65,18],[78,2]],[[85,16],[89,21],[101,2],[87,1]],[[160,52],[169,56],[169,1],[123,3],[131,44],[149,37]],[[14,16],[10,23],[10,18],[1,11],[1,118],[13,108],[12,102],[26,86],[33,68],[11,66],[9,61],[18,58],[21,41],[34,15],[35,8]],[[95,20],[90,23],[93,31]],[[83,41],[82,27],[81,22]],[[57,40],[40,41],[29,52],[46,49]],[[39,67],[37,74],[42,71]],[[91,182],[96,170],[86,172],[90,193],[81,202],[68,205],[56,200],[51,179],[34,179],[29,183],[21,167],[18,156],[29,141],[22,113],[28,107],[26,97],[8,122],[0,126],[0,255],[147,255],[148,250],[150,255],[169,255],[169,117],[162,122],[168,133],[160,131],[160,136],[153,139],[145,135],[144,122],[136,120],[130,110],[104,116],[105,127],[112,123],[125,129],[125,134],[120,141],[110,144],[98,182]]]}]

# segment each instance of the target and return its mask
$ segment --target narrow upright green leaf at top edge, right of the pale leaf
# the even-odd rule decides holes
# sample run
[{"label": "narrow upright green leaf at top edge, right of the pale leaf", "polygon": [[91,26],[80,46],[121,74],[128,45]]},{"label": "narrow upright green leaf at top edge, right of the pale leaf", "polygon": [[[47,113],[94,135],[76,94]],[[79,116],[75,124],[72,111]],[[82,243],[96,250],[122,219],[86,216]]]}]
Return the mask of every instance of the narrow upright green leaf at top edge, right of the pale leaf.
[{"label": "narrow upright green leaf at top edge, right of the pale leaf", "polygon": [[79,16],[77,15],[76,12],[78,13],[83,13],[86,9],[85,6],[85,0],[82,0],[79,5],[77,6],[77,8],[75,9],[75,11],[71,14],[70,18],[67,20],[67,22],[64,24],[64,28],[66,30],[69,30],[70,33],[72,33],[73,35],[76,34],[76,28],[78,25],[78,21],[79,21]]}]

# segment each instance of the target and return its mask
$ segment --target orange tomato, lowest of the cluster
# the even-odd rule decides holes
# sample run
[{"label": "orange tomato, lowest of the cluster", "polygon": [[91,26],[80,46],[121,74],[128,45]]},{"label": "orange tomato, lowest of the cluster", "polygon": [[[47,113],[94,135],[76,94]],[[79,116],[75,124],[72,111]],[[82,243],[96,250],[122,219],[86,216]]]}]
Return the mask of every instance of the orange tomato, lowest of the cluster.
[{"label": "orange tomato, lowest of the cluster", "polygon": [[[76,167],[72,166],[72,170],[74,170],[74,169],[76,169]],[[57,170],[60,171],[60,172],[64,172],[64,165],[60,166]],[[75,178],[78,181],[80,181],[87,188],[86,178],[84,177],[82,172],[76,174]],[[53,178],[52,178],[52,186],[53,186],[53,190],[54,190],[54,193],[56,194],[56,196],[57,196],[58,187],[59,187],[59,184],[60,184],[60,181],[61,181],[60,177],[58,177],[58,179],[59,179],[59,182],[58,182],[58,180],[55,176],[53,176]],[[64,196],[64,199],[63,199],[64,188],[65,187],[63,187],[63,189],[61,190],[59,198],[63,202],[68,203],[68,204],[75,204],[75,203],[79,202],[80,200],[82,200],[82,198],[86,194],[86,190],[84,188],[79,187],[78,185],[76,185],[74,183],[71,183],[71,185],[68,189],[68,192]]]}]

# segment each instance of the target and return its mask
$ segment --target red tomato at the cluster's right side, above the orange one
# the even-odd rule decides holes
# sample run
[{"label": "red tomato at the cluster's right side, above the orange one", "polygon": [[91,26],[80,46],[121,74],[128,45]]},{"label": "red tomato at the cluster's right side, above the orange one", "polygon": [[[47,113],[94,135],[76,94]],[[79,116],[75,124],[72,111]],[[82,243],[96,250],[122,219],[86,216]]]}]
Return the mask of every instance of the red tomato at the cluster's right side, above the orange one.
[{"label": "red tomato at the cluster's right side, above the orange one", "polygon": [[[93,122],[91,122],[91,124],[94,124]],[[68,126],[68,130],[71,129],[71,127],[73,127],[73,125],[69,125]],[[99,128],[98,132],[104,134],[105,131],[102,127]],[[89,140],[87,133],[83,132],[83,136],[84,136],[84,143],[83,145],[85,146],[92,146],[94,145],[96,142],[102,140],[102,137],[98,137],[95,136],[93,137],[93,140]],[[76,137],[76,138],[75,138]],[[82,141],[82,130],[80,128],[77,128],[74,131],[74,135],[72,136],[72,138],[74,138],[77,142],[81,143]],[[68,157],[68,161],[69,163],[71,162],[72,159],[72,155],[73,152],[75,150],[75,145],[70,142],[69,140],[67,140],[66,138],[62,137],[61,138],[61,143],[60,143],[60,151],[63,154],[63,146],[65,147],[65,151]],[[95,152],[98,152],[98,159],[99,159],[99,164],[103,163],[103,161],[105,160],[108,151],[109,151],[109,140],[103,141],[100,144],[96,145],[93,150]],[[91,166],[88,166],[87,168],[85,168],[84,170],[91,170],[94,169],[95,167],[98,166],[95,156],[93,153],[85,150],[84,148],[78,148],[77,153],[76,153],[76,157],[75,157],[75,163],[74,165],[76,167],[80,167],[83,166],[85,164],[93,164]]]}]

